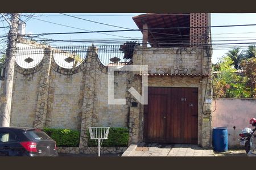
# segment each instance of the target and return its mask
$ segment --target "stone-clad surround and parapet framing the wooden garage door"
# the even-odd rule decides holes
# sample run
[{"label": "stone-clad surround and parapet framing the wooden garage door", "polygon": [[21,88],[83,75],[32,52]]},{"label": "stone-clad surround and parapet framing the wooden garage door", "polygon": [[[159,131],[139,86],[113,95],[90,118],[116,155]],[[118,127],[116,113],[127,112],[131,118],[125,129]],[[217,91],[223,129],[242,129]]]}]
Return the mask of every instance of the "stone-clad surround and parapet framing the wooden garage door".
[{"label": "stone-clad surround and parapet framing the wooden garage door", "polygon": [[[133,56],[134,65],[148,65],[150,74],[207,74],[207,78],[199,77],[152,77],[148,78],[148,86],[155,87],[197,87],[199,88],[199,124],[198,144],[203,147],[211,146],[211,111],[207,111],[207,105],[212,105],[212,60],[210,54],[203,48],[142,48],[138,47]],[[135,83],[137,82],[137,83]],[[134,86],[141,86],[140,79],[134,80]],[[207,89],[207,90],[205,90]],[[210,102],[205,104],[205,99]],[[203,112],[202,112],[203,107]],[[138,105],[133,115],[137,122],[143,122],[143,105]],[[142,141],[143,128],[141,124],[134,125],[137,129],[131,143]],[[134,130],[133,130],[134,131]]]}]

